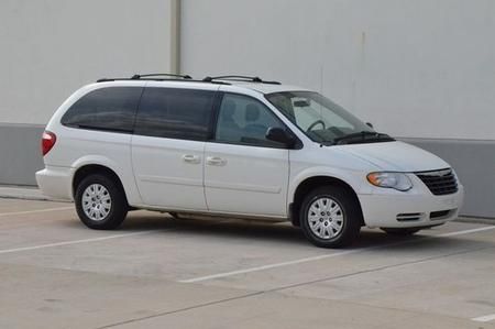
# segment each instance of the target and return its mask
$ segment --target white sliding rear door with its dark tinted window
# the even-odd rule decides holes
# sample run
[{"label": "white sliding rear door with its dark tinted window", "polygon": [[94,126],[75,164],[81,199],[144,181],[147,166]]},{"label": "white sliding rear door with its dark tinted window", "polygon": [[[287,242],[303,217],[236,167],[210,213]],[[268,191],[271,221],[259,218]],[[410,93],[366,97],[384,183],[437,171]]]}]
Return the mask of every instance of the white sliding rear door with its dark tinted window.
[{"label": "white sliding rear door with its dark tinted window", "polygon": [[194,83],[148,83],[143,91],[132,138],[132,163],[145,205],[207,209],[204,152],[218,86],[194,87]]}]

